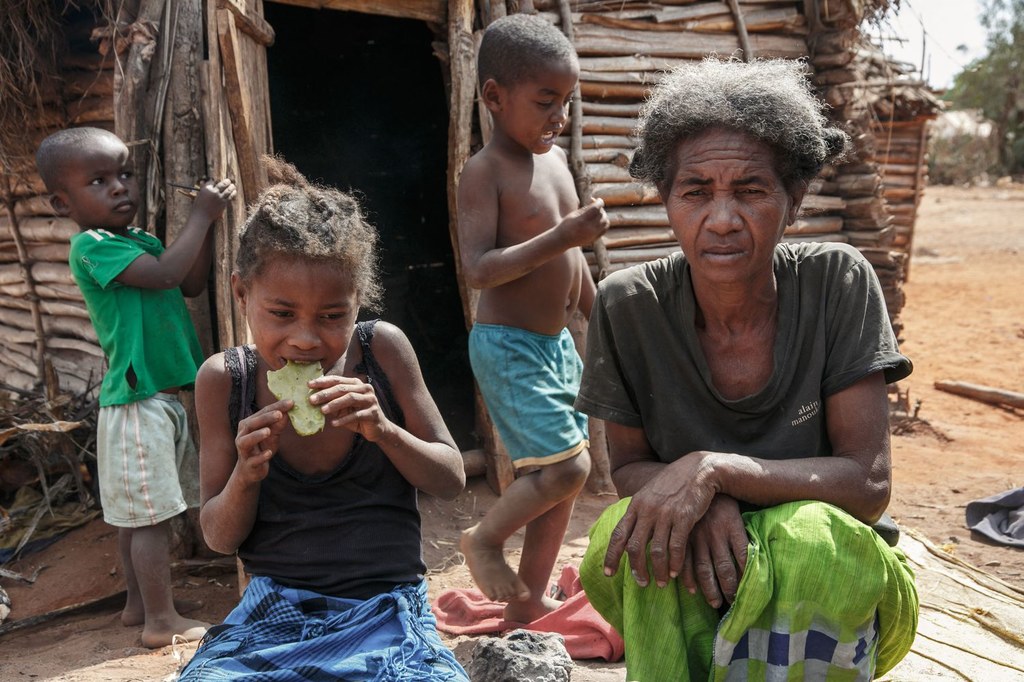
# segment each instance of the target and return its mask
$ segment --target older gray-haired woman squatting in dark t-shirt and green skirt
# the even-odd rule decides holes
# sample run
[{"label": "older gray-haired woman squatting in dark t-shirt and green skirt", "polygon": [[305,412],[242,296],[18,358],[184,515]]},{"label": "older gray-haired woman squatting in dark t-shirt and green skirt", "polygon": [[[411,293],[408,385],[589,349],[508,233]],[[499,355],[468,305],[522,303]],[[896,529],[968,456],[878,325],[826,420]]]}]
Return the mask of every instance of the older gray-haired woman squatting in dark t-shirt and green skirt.
[{"label": "older gray-haired woman squatting in dark t-shirt and green skirt", "polygon": [[581,568],[628,678],[870,679],[909,649],[886,384],[906,377],[856,249],[781,244],[849,141],[798,62],[707,59],[656,88],[630,165],[682,253],[601,283],[577,407],[623,498]]}]

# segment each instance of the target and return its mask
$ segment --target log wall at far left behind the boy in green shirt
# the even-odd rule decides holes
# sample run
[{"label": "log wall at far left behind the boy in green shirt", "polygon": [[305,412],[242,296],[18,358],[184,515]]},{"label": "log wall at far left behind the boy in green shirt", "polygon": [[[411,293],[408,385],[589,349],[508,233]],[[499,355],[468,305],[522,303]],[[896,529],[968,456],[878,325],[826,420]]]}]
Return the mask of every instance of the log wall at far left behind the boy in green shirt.
[{"label": "log wall at far left behind the boy in green shirt", "polygon": [[[33,148],[70,125],[114,129],[113,58],[98,54],[89,41],[92,30],[91,22],[69,27],[61,82],[49,84],[45,114],[26,131]],[[68,266],[69,240],[78,226],[53,215],[31,158],[11,170],[4,179],[13,214],[0,209],[0,380],[20,390],[36,386],[41,347],[61,390],[81,394],[98,385],[104,359]]]}]

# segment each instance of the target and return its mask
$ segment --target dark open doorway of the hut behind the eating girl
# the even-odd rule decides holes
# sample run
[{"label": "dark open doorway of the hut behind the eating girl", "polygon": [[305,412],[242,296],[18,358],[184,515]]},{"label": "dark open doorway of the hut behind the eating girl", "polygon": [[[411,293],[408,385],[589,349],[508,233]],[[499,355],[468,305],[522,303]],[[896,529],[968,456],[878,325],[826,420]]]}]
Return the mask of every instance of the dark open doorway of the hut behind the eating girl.
[{"label": "dark open doorway of the hut behind the eating girl", "polygon": [[475,447],[447,227],[447,95],[434,35],[417,19],[263,8],[276,36],[267,49],[273,148],[309,180],[360,196],[381,237],[379,316],[409,336],[459,447]]}]

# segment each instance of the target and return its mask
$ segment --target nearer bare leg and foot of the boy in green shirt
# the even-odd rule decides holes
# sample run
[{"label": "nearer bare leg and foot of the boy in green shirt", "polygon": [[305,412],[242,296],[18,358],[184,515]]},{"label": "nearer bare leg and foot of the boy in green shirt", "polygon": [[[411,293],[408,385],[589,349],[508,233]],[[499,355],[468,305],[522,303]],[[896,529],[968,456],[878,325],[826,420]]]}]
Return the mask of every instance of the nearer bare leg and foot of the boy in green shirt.
[{"label": "nearer bare leg and foot of the boy in green shirt", "polygon": [[174,607],[166,521],[132,529],[131,566],[145,610],[145,624],[142,626],[144,646],[166,646],[175,635],[194,641],[206,633],[209,623],[186,619]]}]

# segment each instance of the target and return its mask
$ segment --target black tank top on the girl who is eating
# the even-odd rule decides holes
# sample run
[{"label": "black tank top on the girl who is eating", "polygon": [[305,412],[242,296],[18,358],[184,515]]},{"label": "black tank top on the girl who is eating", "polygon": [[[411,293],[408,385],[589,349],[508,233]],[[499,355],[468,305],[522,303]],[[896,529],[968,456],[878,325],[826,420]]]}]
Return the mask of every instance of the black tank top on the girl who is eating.
[{"label": "black tank top on the girl who is eating", "polygon": [[[387,417],[404,426],[387,376],[370,348],[377,321],[358,323],[365,374]],[[252,414],[256,395],[253,346],[224,351],[231,375],[231,423]],[[289,587],[369,599],[423,579],[417,491],[376,443],[356,434],[334,471],[307,476],[270,460],[260,485],[256,521],[239,547],[246,570]]]}]

